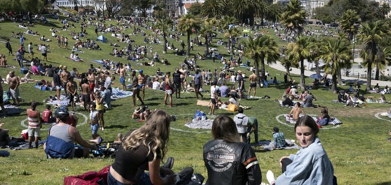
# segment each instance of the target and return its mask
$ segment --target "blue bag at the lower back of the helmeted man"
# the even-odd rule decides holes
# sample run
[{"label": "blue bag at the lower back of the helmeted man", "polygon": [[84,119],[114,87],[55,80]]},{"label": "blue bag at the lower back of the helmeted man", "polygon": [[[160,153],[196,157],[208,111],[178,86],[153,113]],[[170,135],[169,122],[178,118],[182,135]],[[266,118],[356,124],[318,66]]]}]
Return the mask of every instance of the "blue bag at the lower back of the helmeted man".
[{"label": "blue bag at the lower back of the helmeted man", "polygon": [[69,158],[73,148],[73,143],[49,135],[46,141],[45,153],[48,158]]}]

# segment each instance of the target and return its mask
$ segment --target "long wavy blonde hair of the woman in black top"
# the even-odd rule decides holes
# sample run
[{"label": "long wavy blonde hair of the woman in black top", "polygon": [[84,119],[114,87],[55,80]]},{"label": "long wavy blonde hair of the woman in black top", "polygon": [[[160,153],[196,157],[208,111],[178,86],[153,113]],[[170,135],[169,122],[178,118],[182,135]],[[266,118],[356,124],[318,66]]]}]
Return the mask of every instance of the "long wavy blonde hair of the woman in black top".
[{"label": "long wavy blonde hair of the woman in black top", "polygon": [[171,117],[164,110],[151,112],[145,124],[125,138],[122,142],[123,148],[130,151],[145,145],[148,147],[148,155],[152,149],[153,161],[155,161],[157,156],[156,150],[160,148],[161,159],[164,159],[169,141],[170,122]]}]

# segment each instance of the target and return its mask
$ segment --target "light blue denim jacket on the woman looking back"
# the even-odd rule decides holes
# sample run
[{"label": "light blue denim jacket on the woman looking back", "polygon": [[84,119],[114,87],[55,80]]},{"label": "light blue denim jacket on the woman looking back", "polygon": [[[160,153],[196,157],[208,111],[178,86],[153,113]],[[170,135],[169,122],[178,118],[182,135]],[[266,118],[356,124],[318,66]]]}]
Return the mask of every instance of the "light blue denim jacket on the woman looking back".
[{"label": "light blue denim jacket on the woman looking back", "polygon": [[293,162],[276,179],[279,184],[333,184],[334,168],[318,137],[308,147],[289,156]]}]

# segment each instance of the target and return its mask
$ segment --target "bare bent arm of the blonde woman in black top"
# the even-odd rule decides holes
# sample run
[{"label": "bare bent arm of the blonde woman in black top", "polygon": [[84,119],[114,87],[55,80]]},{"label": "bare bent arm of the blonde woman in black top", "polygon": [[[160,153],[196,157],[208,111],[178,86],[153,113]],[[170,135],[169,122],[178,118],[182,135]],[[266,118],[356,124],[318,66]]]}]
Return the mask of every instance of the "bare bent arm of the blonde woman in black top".
[{"label": "bare bent arm of the blonde woman in black top", "polygon": [[148,162],[149,168],[149,179],[152,184],[155,185],[164,185],[164,184],[172,184],[175,182],[176,175],[168,175],[165,178],[160,177],[160,159],[156,159],[155,161]]}]

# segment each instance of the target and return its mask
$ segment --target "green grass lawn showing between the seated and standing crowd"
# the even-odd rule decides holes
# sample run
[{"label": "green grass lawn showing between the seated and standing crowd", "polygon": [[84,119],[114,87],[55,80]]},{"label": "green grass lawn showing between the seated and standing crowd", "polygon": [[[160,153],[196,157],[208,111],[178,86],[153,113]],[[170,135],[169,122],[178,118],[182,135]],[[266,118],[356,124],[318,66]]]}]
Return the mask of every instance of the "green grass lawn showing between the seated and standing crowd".
[{"label": "green grass lawn showing between the seated and standing crowd", "polygon": [[[50,19],[57,26],[61,24]],[[107,21],[106,24],[116,22]],[[150,24],[150,23],[149,23]],[[25,29],[16,27],[17,23],[12,22],[2,22],[0,23],[0,36],[10,36],[11,31],[14,32],[25,32]],[[50,26],[37,25],[32,28],[32,30],[38,32],[42,35],[49,37],[50,36]],[[78,24],[76,24],[76,31],[80,30]],[[71,29],[72,30],[72,29]],[[94,35],[94,27],[87,27],[87,32],[90,34],[88,38],[95,40],[96,36]],[[130,33],[133,31],[131,29],[125,30],[125,33]],[[146,31],[149,34],[149,31]],[[273,30],[269,30],[273,34]],[[69,32],[61,31],[60,34],[68,35]],[[40,44],[38,40],[39,37],[25,35],[28,39],[25,43],[32,42],[33,44]],[[118,43],[121,47],[125,47],[124,43],[117,42],[115,38],[111,37],[109,34],[105,34],[105,37],[112,43]],[[194,38],[194,36],[191,36]],[[143,45],[143,38],[139,36],[132,37],[136,40],[136,44]],[[181,37],[185,40],[185,37]],[[214,39],[223,39],[222,34],[218,35],[218,38]],[[244,39],[240,39],[242,41]],[[169,41],[174,42],[176,47],[180,46],[180,42],[175,42],[171,39]],[[74,41],[70,39],[69,43],[72,47]],[[284,43],[279,42],[279,45]],[[13,50],[16,51],[18,46],[18,39],[11,39],[11,45]],[[26,46],[27,46],[26,44]],[[46,43],[47,44],[47,43]],[[112,47],[109,46],[109,43],[99,43],[102,51],[92,51],[84,50],[85,53],[81,53],[80,57],[84,59],[83,63],[76,63],[71,60],[64,58],[63,56],[69,56],[71,50],[66,50],[62,48],[57,48],[56,42],[50,42],[50,53],[48,54],[49,63],[56,66],[67,65],[68,69],[75,67],[79,69],[80,72],[84,72],[89,64],[91,59],[102,59],[110,58],[114,61],[121,61],[122,63],[127,63],[124,58],[117,58],[110,56],[108,53],[112,50]],[[134,45],[134,44],[133,44]],[[150,45],[150,44],[149,44]],[[218,48],[220,52],[227,53],[226,49],[219,47],[217,45],[212,45],[211,47]],[[37,48],[37,47],[35,47]],[[205,47],[199,47],[194,45],[194,51],[191,51],[191,54],[197,54],[197,52],[203,53]],[[162,54],[162,45],[153,45],[153,51],[158,52],[160,57],[168,58],[172,66],[162,66],[160,64],[157,67],[160,67],[162,72],[174,71],[174,68],[178,66],[180,61],[183,61],[184,56],[175,56],[172,50],[168,50],[167,54]],[[7,49],[2,46],[0,47],[0,53],[7,53]],[[36,56],[42,58],[40,53],[36,53]],[[246,58],[244,58],[244,61]],[[253,61],[253,60],[251,60]],[[12,60],[11,57],[8,58],[10,65],[18,66],[15,60]],[[220,64],[213,64],[211,60],[198,60],[201,69],[214,69],[218,68]],[[131,64],[135,64],[131,61]],[[142,67],[133,65],[135,69],[143,69],[145,74],[152,75],[155,73],[157,67]],[[2,77],[5,77],[10,69],[0,69],[0,74]],[[243,71],[243,69],[241,68]],[[266,69],[271,73],[271,76],[276,76],[278,80],[283,81],[283,74],[285,72],[277,71],[267,67]],[[22,76],[19,72],[19,69],[16,69],[16,74]],[[299,76],[293,76],[296,81],[299,81]],[[35,79],[49,79],[48,77],[39,77],[34,76]],[[306,79],[307,83],[312,81],[311,79]],[[119,84],[119,78],[117,78],[114,83]],[[21,97],[25,100],[21,104],[21,108],[28,108],[31,101],[40,102],[38,110],[44,110],[44,104],[42,101],[46,99],[49,95],[54,95],[53,91],[40,91],[32,87],[32,83],[21,84],[20,92]],[[8,85],[3,84],[5,89]],[[117,87],[118,85],[114,85]],[[246,87],[248,82],[246,82]],[[208,89],[209,87],[205,87]],[[347,86],[341,86],[340,88],[347,88]],[[280,131],[285,134],[287,139],[296,139],[294,136],[293,129],[285,125],[279,124],[275,119],[277,115],[288,113],[289,109],[285,107],[279,107],[274,99],[280,99],[285,87],[281,85],[272,85],[268,88],[257,88],[257,96],[263,97],[268,95],[271,99],[259,99],[259,100],[243,100],[242,105],[250,106],[252,109],[245,110],[245,114],[248,116],[256,116],[259,121],[259,139],[260,140],[270,140],[272,139],[272,129],[273,127],[279,127]],[[340,184],[389,184],[391,183],[391,175],[389,174],[389,156],[391,151],[390,143],[386,141],[387,131],[391,128],[391,122],[380,120],[374,117],[375,113],[388,111],[388,104],[367,104],[363,108],[352,108],[345,107],[341,104],[332,103],[333,99],[337,98],[337,95],[332,94],[329,90],[324,88],[319,88],[316,90],[311,90],[312,94],[318,99],[314,104],[316,105],[325,105],[329,107],[331,116],[338,117],[343,124],[337,129],[330,130],[321,130],[319,132],[319,138],[323,143],[325,150],[328,152],[329,158],[334,165],[335,175],[338,177],[338,182]],[[379,97],[378,95],[375,95]],[[184,131],[195,131],[193,129],[188,129],[184,127],[186,120],[191,119],[192,115],[196,112],[197,109],[208,111],[207,107],[201,107],[196,105],[195,95],[183,94],[180,100],[174,99],[173,103],[175,106],[173,108],[168,108],[163,106],[164,93],[161,91],[154,91],[151,89],[146,90],[146,104],[150,106],[151,109],[164,109],[169,114],[178,115],[178,119],[175,122],[172,122],[171,127],[175,129],[181,129]],[[391,100],[390,95],[386,95],[387,100]],[[227,101],[227,98],[222,98],[223,101]],[[108,110],[105,113],[105,122],[106,129],[99,134],[105,138],[105,141],[113,141],[116,139],[117,133],[125,134],[131,129],[136,129],[142,125],[142,122],[131,119],[131,114],[134,110],[132,107],[131,98],[119,99],[112,102],[113,109]],[[308,114],[320,114],[319,108],[306,108],[304,111]],[[84,111],[78,111],[86,115]],[[186,114],[186,115],[183,115]],[[227,112],[225,110],[216,110],[216,114],[227,114],[234,116],[234,113]],[[21,126],[20,121],[26,118],[26,112],[21,113],[19,116],[12,116],[2,119],[5,123],[4,128],[10,129],[11,136],[19,136],[20,131],[25,129]],[[47,126],[44,126],[44,129],[47,129]],[[90,129],[88,125],[83,125],[78,127],[81,135],[84,139],[91,138]],[[197,130],[199,131],[199,130]],[[211,134],[209,130],[205,133],[189,133],[171,130],[170,141],[168,145],[168,156],[173,156],[175,158],[174,171],[179,171],[183,167],[192,166],[196,173],[201,173],[207,177],[207,172],[204,167],[204,162],[202,159],[202,148],[204,143],[211,139]],[[42,131],[42,137],[46,138],[47,131]],[[46,159],[45,153],[41,148],[39,149],[29,149],[29,150],[11,150],[11,156],[9,158],[2,158],[0,164],[0,183],[1,184],[62,184],[63,177],[69,175],[78,175],[82,174],[89,170],[98,171],[103,167],[110,165],[113,162],[113,159],[74,159],[74,160],[55,160],[55,159]],[[256,155],[259,160],[260,168],[263,172],[263,182],[266,180],[267,170],[272,170],[278,176],[280,175],[280,167],[278,160],[282,156],[287,156],[289,153],[296,153],[297,150],[275,150],[275,151],[264,151],[257,150]]]}]

